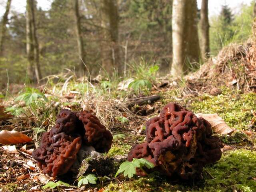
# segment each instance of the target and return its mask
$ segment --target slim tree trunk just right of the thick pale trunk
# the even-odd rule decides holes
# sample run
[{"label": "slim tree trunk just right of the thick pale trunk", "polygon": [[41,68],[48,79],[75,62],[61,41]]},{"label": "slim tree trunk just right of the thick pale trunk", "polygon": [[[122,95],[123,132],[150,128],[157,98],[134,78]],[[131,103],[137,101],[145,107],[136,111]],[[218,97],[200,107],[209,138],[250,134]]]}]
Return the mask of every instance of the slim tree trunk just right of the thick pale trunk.
[{"label": "slim tree trunk just right of the thick pale trunk", "polygon": [[201,30],[201,54],[202,59],[206,61],[210,57],[210,38],[208,21],[208,0],[202,0],[200,10],[200,30]]}]

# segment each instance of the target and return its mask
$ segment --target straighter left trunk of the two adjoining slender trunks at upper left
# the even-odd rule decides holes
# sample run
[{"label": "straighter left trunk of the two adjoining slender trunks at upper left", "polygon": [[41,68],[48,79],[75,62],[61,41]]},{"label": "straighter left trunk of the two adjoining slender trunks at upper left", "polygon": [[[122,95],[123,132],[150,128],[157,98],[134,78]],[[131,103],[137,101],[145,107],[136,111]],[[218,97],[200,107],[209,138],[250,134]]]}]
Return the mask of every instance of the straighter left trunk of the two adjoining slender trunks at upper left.
[{"label": "straighter left trunk of the two adjoining slender trunks at upper left", "polygon": [[31,2],[26,5],[26,52],[28,58],[28,76],[34,81],[34,44],[32,38]]}]

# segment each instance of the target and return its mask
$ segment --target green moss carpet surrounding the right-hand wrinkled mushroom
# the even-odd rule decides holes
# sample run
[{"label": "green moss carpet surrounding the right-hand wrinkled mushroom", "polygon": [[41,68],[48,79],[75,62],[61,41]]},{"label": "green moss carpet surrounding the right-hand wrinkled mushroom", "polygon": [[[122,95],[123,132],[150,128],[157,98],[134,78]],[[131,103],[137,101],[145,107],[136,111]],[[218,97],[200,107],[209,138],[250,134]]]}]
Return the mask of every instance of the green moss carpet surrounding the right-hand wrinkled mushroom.
[{"label": "green moss carpet surrounding the right-hand wrinkled mushroom", "polygon": [[[104,187],[106,192],[254,192],[256,191],[256,152],[255,137],[245,134],[246,130],[255,129],[251,124],[252,110],[256,110],[256,94],[242,93],[237,90],[222,87],[222,94],[212,96],[203,93],[180,100],[178,90],[160,93],[162,104],[178,102],[195,113],[218,113],[236,132],[232,136],[221,136],[228,146],[222,158],[216,164],[204,168],[202,180],[190,182],[173,182],[157,174],[148,177],[136,177],[120,182],[111,182]],[[134,140],[131,136],[114,141],[110,156],[124,155],[130,145],[125,141]],[[225,146],[225,148],[226,148]]]}]

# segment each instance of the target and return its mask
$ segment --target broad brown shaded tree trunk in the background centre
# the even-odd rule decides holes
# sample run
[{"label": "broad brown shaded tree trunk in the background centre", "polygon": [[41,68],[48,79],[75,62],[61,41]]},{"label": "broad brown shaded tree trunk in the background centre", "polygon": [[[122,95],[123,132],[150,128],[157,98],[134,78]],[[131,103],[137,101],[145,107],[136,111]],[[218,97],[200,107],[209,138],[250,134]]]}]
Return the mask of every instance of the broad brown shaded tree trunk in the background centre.
[{"label": "broad brown shaded tree trunk in the background centre", "polygon": [[102,67],[112,75],[113,69],[122,72],[118,39],[118,4],[117,0],[101,1],[102,27]]}]

